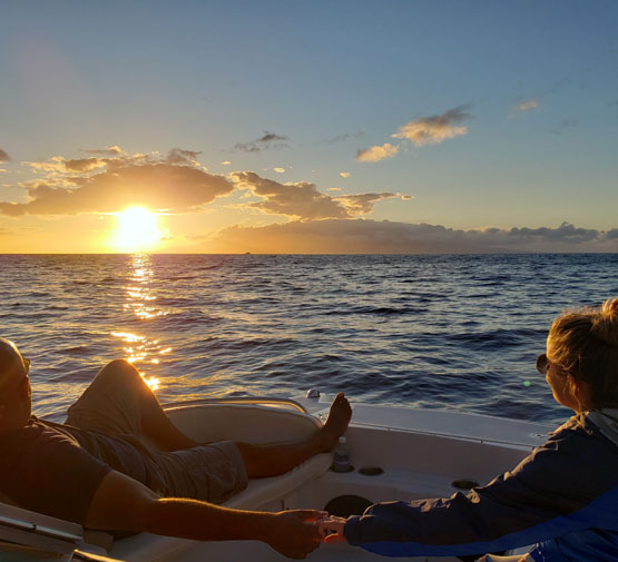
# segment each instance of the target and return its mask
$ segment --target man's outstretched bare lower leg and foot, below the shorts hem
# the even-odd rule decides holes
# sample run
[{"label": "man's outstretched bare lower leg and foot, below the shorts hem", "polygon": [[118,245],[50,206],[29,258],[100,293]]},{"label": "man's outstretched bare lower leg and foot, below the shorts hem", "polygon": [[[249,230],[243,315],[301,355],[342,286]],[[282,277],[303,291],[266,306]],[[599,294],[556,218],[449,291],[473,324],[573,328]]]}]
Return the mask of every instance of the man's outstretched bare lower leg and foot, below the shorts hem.
[{"label": "man's outstretched bare lower leg and foot, below the shorts hem", "polygon": [[343,393],[331,404],[326,423],[305,440],[269,445],[236,443],[249,479],[283,474],[317,453],[332,451],[346,430],[352,408]]}]

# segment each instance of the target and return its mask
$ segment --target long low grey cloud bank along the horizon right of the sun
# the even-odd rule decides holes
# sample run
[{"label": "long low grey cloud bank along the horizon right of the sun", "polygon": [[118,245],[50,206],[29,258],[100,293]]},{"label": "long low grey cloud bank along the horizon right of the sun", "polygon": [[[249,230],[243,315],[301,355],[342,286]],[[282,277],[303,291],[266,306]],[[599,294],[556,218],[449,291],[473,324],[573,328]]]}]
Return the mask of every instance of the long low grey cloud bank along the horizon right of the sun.
[{"label": "long low grey cloud bank along the horizon right of the sun", "polygon": [[293,221],[264,227],[234,226],[215,239],[217,252],[283,254],[470,254],[518,252],[618,252],[618,229],[487,228],[458,230],[440,225],[369,219]]}]

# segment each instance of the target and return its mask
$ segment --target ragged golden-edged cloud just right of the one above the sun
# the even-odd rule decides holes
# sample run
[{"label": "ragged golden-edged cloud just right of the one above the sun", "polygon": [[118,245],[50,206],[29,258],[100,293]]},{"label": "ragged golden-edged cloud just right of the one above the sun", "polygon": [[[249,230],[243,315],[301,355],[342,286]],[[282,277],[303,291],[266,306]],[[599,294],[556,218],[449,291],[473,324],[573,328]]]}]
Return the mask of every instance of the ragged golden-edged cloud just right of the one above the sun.
[{"label": "ragged golden-edged cloud just right of the one above the sun", "polygon": [[385,193],[331,197],[308,181],[279,184],[253,171],[237,171],[230,177],[238,188],[249,189],[263,199],[249,204],[251,207],[301,220],[352,218],[371,213],[373,205],[382,199],[399,197]]}]

